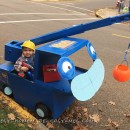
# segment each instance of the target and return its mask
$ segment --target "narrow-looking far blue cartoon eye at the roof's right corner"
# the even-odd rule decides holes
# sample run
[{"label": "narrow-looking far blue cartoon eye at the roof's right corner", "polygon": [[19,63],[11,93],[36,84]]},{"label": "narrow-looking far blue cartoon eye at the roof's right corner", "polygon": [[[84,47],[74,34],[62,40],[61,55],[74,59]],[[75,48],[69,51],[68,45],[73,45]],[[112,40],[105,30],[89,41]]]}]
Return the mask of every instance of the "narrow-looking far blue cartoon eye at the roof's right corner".
[{"label": "narrow-looking far blue cartoon eye at the roof's right corner", "polygon": [[87,50],[88,50],[88,54],[90,55],[90,57],[93,60],[96,60],[97,59],[97,54],[96,54],[96,51],[95,51],[94,47],[92,46],[92,44],[90,42],[87,44]]}]

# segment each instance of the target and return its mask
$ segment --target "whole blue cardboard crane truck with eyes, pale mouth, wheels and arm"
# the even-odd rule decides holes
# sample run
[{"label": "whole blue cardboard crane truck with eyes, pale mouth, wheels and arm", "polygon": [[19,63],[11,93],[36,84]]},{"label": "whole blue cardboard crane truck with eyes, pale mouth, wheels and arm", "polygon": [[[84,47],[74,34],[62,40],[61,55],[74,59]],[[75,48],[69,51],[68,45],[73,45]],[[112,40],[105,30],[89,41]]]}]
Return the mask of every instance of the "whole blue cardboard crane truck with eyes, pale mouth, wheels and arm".
[{"label": "whole blue cardboard crane truck with eyes, pale mouth, wheels and arm", "polygon": [[[30,39],[36,45],[41,45],[35,51],[33,80],[21,78],[14,72],[14,63],[21,56],[23,42],[10,41],[5,45],[5,63],[0,64],[1,90],[17,103],[34,110],[40,118],[58,118],[75,99],[87,101],[92,98],[101,87],[105,73],[93,45],[87,39],[68,36],[128,20],[129,13]],[[93,60],[88,70],[75,66],[69,58],[83,47]],[[56,65],[60,78],[45,82],[45,65]]]}]

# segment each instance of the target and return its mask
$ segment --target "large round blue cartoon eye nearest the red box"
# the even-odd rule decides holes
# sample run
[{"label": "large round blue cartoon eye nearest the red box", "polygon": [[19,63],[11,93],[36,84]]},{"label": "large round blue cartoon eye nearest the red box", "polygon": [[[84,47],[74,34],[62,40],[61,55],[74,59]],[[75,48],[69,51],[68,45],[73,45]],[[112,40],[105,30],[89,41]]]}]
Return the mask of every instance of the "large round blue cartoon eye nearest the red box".
[{"label": "large round blue cartoon eye nearest the red box", "polygon": [[64,79],[70,80],[75,75],[75,65],[68,57],[62,57],[57,63],[57,70],[60,76]]}]

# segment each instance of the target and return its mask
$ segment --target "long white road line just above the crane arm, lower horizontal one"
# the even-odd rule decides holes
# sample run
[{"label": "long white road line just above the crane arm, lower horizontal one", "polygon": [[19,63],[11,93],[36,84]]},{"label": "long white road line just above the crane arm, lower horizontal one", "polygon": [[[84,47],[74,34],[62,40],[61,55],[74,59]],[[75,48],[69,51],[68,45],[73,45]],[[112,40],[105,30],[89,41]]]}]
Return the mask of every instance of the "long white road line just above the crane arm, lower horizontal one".
[{"label": "long white road line just above the crane arm, lower horizontal one", "polygon": [[44,21],[73,21],[73,20],[95,20],[97,18],[77,18],[77,19],[37,19],[37,20],[20,20],[20,21],[1,21],[0,24],[9,23],[27,23],[27,22],[44,22]]}]

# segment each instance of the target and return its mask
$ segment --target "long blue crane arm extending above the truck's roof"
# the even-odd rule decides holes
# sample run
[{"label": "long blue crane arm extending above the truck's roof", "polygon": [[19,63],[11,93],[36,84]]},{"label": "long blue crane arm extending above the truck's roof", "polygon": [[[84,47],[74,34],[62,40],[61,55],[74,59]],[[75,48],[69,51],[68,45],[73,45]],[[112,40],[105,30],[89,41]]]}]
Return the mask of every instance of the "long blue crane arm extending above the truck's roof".
[{"label": "long blue crane arm extending above the truck's roof", "polygon": [[97,20],[97,21],[93,21],[89,23],[73,25],[65,29],[61,29],[55,32],[51,32],[51,33],[39,36],[39,37],[32,38],[30,40],[36,43],[36,45],[44,44],[53,40],[57,40],[59,38],[84,33],[85,31],[109,26],[115,23],[126,22],[129,20],[130,20],[130,13],[122,14],[122,15],[108,17],[105,19],[101,19],[101,20]]}]

